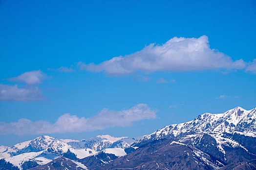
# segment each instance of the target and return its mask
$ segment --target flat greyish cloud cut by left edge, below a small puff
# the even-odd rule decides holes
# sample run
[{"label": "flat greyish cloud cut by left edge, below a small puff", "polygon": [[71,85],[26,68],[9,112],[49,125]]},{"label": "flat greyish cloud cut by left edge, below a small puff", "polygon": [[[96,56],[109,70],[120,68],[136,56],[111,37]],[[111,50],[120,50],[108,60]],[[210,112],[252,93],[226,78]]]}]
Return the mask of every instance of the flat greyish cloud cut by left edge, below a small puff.
[{"label": "flat greyish cloud cut by left edge, below a small puff", "polygon": [[39,101],[43,94],[38,87],[19,88],[18,85],[0,84],[0,101]]}]

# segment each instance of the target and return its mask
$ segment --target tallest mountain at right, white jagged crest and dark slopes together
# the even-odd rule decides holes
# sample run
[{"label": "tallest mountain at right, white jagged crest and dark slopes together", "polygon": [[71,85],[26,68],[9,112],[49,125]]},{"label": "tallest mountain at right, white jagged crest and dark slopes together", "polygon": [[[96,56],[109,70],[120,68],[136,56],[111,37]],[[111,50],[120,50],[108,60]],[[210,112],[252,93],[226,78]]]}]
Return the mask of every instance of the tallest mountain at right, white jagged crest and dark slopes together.
[{"label": "tallest mountain at right, white jagged crest and dark slopes together", "polygon": [[126,150],[130,150],[127,155],[97,170],[216,170],[254,160],[256,109],[236,107],[222,114],[205,113],[157,130]]}]

